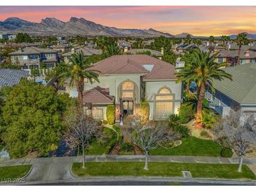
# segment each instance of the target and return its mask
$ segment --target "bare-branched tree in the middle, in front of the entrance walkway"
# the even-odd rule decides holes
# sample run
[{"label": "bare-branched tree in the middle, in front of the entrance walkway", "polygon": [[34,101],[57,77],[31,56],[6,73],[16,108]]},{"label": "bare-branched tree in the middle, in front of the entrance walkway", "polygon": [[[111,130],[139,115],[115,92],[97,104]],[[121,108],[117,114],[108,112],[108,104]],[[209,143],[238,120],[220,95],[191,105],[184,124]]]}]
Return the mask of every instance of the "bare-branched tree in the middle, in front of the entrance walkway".
[{"label": "bare-branched tree in the middle, in front of the entrance walkway", "polygon": [[132,135],[133,143],[140,147],[145,154],[144,170],[148,170],[149,152],[158,146],[173,142],[180,138],[177,132],[168,128],[167,121],[147,121],[147,123],[135,123],[135,132]]}]

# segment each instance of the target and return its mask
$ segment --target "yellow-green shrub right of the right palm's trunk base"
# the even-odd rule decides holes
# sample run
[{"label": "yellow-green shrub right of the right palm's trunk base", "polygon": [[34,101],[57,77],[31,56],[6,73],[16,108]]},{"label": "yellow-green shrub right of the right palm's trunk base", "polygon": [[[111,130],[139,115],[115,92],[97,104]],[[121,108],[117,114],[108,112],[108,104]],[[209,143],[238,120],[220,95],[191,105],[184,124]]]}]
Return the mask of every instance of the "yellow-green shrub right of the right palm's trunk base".
[{"label": "yellow-green shrub right of the right palm's trunk base", "polygon": [[210,109],[203,109],[202,115],[200,116],[201,122],[206,128],[213,128],[218,118],[220,118],[220,116]]}]

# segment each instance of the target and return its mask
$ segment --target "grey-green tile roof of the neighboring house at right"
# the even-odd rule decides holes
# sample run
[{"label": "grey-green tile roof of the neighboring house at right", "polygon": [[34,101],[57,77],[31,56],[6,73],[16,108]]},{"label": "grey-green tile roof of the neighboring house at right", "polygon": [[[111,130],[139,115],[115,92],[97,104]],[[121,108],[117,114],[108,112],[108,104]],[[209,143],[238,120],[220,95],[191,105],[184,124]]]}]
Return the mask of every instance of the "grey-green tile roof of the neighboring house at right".
[{"label": "grey-green tile roof of the neighboring house at right", "polygon": [[223,69],[233,81],[224,78],[213,81],[213,87],[239,104],[256,104],[256,63],[241,64]]}]

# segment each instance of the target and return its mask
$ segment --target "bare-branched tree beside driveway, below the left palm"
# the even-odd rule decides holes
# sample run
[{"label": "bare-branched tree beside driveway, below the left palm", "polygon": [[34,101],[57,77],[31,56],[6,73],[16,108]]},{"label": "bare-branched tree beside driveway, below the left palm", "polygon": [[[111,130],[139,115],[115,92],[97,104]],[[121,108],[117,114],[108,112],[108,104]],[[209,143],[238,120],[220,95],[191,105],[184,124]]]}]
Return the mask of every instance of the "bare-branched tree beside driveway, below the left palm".
[{"label": "bare-branched tree beside driveway, below the left palm", "polygon": [[75,108],[71,108],[66,117],[67,135],[65,136],[67,144],[75,149],[81,146],[82,162],[85,168],[86,148],[90,145],[91,139],[100,136],[101,125],[91,116],[80,114]]}]

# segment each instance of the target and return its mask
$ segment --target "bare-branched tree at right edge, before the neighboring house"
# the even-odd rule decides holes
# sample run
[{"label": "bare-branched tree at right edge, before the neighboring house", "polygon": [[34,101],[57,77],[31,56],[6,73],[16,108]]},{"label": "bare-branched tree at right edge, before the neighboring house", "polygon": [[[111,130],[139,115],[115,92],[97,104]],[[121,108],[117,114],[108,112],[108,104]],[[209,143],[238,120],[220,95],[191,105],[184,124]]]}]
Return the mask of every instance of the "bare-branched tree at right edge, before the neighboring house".
[{"label": "bare-branched tree at right edge, before the neighboring house", "polygon": [[240,157],[238,172],[241,172],[243,157],[252,144],[256,144],[256,116],[243,113],[243,111],[230,111],[229,116],[224,117],[215,124],[215,134],[218,138],[225,138],[229,146]]}]

